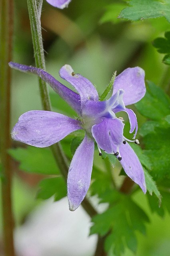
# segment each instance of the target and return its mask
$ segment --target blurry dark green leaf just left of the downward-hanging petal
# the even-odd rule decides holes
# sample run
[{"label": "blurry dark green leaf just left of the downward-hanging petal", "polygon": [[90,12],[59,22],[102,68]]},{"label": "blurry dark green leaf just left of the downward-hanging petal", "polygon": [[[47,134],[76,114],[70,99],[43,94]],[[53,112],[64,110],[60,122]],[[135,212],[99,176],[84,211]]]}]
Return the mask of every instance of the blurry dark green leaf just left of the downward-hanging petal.
[{"label": "blurry dark green leaf just left of the downward-hanging petal", "polygon": [[67,195],[66,183],[62,177],[41,180],[39,187],[37,198],[48,199],[54,195],[57,201]]}]

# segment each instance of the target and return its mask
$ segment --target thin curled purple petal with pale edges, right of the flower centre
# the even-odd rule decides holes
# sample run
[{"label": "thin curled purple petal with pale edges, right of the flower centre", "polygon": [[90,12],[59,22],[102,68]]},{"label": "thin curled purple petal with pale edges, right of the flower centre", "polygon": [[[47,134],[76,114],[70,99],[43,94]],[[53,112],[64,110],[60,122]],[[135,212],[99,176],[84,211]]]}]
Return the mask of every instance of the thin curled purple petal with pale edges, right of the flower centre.
[{"label": "thin curled purple petal with pale edges, right of the flower centre", "polygon": [[133,112],[132,109],[129,109],[129,108],[126,108],[126,109],[114,109],[113,110],[114,113],[117,113],[117,112],[120,112],[120,111],[124,111],[124,112],[126,112],[128,114],[129,122],[130,122],[130,133],[132,133],[134,131],[134,129],[136,128],[135,134],[133,136],[133,139],[135,139],[136,133],[138,131],[138,121],[137,121],[137,118],[136,118],[136,114]]}]

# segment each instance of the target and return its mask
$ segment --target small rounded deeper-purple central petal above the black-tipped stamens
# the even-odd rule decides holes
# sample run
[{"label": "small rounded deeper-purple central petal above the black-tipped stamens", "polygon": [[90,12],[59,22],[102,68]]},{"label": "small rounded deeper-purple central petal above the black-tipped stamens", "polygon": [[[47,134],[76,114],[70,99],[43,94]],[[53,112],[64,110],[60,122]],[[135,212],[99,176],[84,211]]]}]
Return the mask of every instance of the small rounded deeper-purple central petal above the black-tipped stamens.
[{"label": "small rounded deeper-purple central petal above the black-tipped stamens", "polygon": [[116,146],[122,144],[123,128],[120,119],[104,118],[100,124],[92,126],[92,135],[98,146],[110,154],[116,151]]}]

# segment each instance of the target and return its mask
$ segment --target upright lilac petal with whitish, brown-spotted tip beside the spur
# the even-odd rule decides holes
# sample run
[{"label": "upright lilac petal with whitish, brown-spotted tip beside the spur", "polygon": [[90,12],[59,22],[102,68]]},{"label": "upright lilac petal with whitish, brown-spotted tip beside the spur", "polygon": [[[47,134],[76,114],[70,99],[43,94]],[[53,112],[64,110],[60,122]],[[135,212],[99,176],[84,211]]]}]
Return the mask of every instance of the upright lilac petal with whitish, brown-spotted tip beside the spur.
[{"label": "upright lilac petal with whitish, brown-spotted tip beside the spur", "polygon": [[64,65],[59,74],[61,78],[72,84],[78,91],[81,97],[82,105],[86,100],[98,101],[98,92],[94,85],[85,77],[80,74],[75,74],[70,65]]}]

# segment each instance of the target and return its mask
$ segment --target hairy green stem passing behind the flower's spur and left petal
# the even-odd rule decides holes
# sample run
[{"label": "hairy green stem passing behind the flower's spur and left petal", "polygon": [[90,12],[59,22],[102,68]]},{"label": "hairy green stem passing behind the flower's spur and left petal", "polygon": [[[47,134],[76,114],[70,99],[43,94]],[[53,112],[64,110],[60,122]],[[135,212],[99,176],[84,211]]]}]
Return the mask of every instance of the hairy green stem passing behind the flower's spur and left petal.
[{"label": "hairy green stem passing behind the flower's spur and left petal", "polygon": [[[38,6],[41,6],[41,0],[38,0]],[[40,9],[37,10],[37,1],[36,0],[27,0],[28,4],[28,12],[30,17],[30,26],[32,33],[32,42],[34,47],[34,58],[37,68],[46,69],[45,67],[45,58],[44,58],[44,49],[42,43],[42,33],[41,33],[41,23],[40,23]],[[44,110],[51,111],[50,98],[48,94],[48,89],[46,83],[39,78],[39,88],[40,88],[40,96],[42,100],[42,106]],[[67,158],[62,150],[60,143],[56,143],[52,145],[51,150],[53,152],[54,159],[58,167],[60,168],[61,174],[64,177],[64,180],[67,180],[68,173],[68,162]],[[87,198],[84,198],[82,202],[82,206],[86,212],[93,217],[97,214],[94,207],[90,204]]]}]

